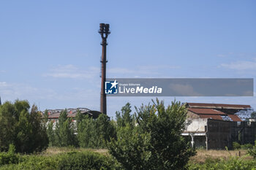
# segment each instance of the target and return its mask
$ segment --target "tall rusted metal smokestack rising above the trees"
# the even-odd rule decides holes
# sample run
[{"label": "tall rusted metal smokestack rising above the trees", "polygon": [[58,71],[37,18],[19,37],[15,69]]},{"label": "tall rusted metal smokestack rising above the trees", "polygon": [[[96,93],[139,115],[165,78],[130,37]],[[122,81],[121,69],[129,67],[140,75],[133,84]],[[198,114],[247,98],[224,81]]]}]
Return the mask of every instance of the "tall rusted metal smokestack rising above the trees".
[{"label": "tall rusted metal smokestack rising above the trees", "polygon": [[100,112],[107,115],[107,98],[105,94],[105,81],[106,81],[106,63],[107,61],[107,38],[108,34],[110,34],[109,31],[109,24],[108,23],[100,23],[99,24],[99,34],[102,36],[102,60],[100,61],[102,63],[102,89],[100,92]]}]

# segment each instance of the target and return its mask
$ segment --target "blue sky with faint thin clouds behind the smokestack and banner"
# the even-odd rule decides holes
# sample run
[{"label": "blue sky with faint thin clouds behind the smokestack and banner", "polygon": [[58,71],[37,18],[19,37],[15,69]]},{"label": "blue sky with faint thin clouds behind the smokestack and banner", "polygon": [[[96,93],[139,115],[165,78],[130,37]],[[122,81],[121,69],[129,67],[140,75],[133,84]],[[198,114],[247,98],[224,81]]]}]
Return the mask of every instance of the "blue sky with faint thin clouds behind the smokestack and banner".
[{"label": "blue sky with faint thin clouds behind the smokestack and banner", "polygon": [[[0,1],[0,96],[40,110],[99,110],[99,23],[107,77],[256,78],[256,1]],[[174,97],[161,97],[165,104]],[[256,97],[177,97],[250,104]],[[148,97],[109,97],[108,115]]]}]

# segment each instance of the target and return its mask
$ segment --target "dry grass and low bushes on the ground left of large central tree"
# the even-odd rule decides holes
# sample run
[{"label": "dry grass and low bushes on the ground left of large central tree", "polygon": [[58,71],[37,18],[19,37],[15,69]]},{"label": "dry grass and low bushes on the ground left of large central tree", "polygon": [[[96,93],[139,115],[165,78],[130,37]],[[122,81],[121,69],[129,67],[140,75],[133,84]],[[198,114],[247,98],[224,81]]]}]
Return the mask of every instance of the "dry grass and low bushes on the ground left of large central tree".
[{"label": "dry grass and low bushes on the ground left of large central tree", "polygon": [[2,152],[0,169],[118,169],[118,163],[106,150],[55,147],[31,155]]}]

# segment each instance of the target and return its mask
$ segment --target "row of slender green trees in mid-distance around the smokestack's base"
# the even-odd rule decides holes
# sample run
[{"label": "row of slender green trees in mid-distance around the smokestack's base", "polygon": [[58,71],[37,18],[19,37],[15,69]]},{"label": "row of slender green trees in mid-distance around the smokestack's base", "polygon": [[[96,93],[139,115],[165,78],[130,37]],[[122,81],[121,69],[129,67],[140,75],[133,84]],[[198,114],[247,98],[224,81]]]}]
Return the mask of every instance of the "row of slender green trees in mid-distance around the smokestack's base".
[{"label": "row of slender green trees in mid-distance around the smokestack's base", "polygon": [[67,110],[64,110],[59,121],[48,123],[49,145],[103,148],[111,138],[116,138],[116,126],[107,115],[101,114],[93,119],[78,110],[75,120],[76,123],[68,118]]}]

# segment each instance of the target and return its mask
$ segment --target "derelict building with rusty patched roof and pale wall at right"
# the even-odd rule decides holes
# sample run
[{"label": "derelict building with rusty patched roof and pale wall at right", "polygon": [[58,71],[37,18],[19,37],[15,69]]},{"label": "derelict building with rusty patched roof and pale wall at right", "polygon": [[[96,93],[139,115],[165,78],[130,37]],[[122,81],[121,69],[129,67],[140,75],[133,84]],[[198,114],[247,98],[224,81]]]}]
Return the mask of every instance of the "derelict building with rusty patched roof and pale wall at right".
[{"label": "derelict building with rusty patched roof and pale wall at right", "polygon": [[187,103],[187,109],[190,124],[182,135],[191,137],[193,147],[225,149],[233,142],[255,142],[256,122],[249,119],[249,105]]}]

